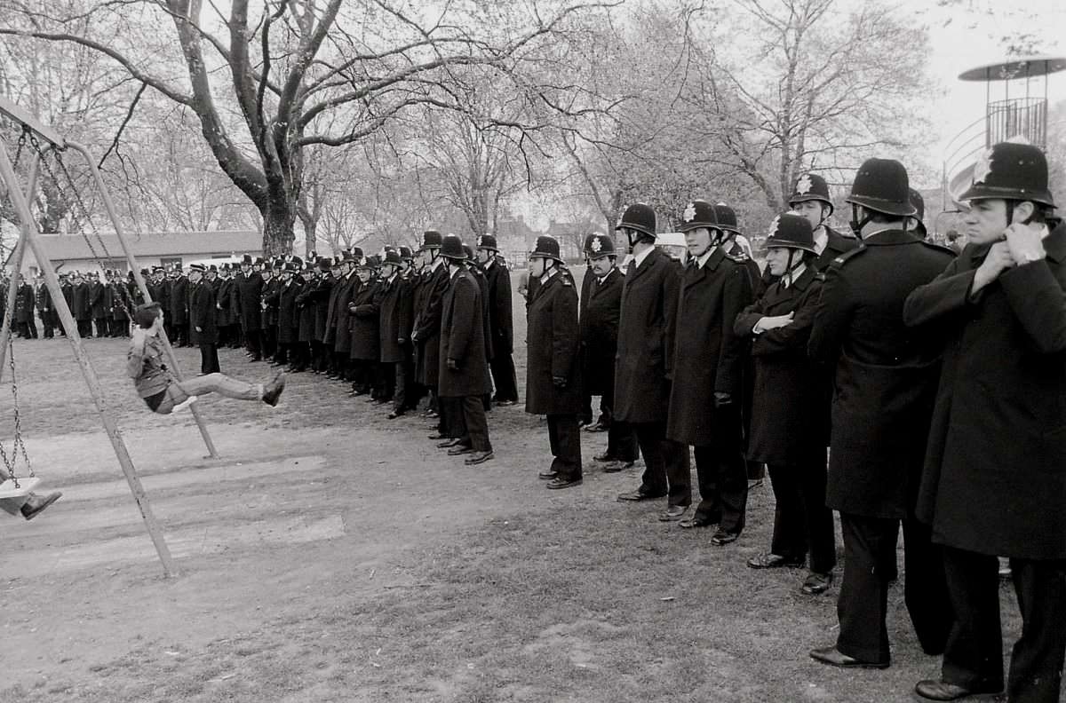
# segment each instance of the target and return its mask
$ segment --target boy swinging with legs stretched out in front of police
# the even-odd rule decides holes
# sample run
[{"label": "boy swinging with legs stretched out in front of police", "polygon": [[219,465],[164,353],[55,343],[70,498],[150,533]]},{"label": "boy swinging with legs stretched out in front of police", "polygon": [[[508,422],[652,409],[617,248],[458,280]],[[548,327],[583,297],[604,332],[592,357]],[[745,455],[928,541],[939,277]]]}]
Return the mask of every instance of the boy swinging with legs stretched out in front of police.
[{"label": "boy swinging with legs stretched out in front of police", "polygon": [[133,311],[135,325],[127,354],[126,373],[133,379],[138,394],[152,412],[167,415],[191,405],[197,395],[217,393],[239,400],[262,400],[274,407],[285,390],[285,375],[269,383],[246,383],[224,374],[206,374],[178,381],[163,361],[163,310],[158,303],[139,305]]}]

